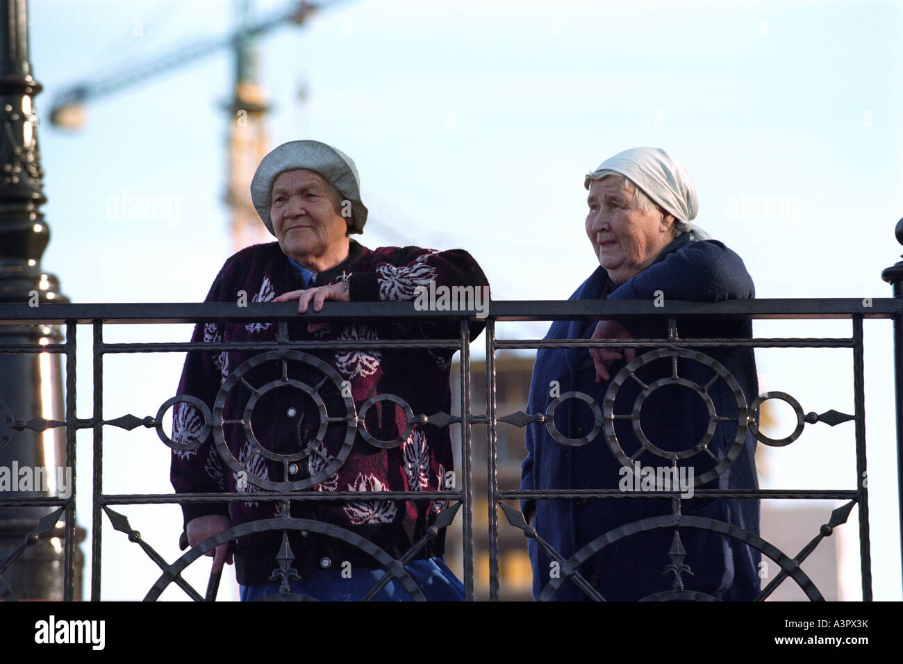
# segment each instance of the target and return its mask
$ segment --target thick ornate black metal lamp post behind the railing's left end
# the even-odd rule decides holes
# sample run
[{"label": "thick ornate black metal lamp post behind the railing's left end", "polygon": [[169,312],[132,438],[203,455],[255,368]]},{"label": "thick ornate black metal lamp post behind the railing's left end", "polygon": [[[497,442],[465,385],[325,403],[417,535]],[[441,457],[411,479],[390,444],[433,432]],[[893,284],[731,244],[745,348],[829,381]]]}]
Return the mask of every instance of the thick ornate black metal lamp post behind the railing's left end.
[{"label": "thick ornate black metal lamp post behind the railing's left end", "polygon": [[[41,306],[66,299],[57,278],[41,268],[50,229],[40,210],[46,198],[33,97],[41,85],[29,62],[27,9],[27,0],[0,0],[0,302]],[[60,355],[40,351],[57,341],[61,333],[51,326],[0,325],[0,348],[31,348],[0,352],[0,468],[7,478],[0,484],[0,596],[5,599],[80,596],[74,436],[67,445],[60,428],[33,425],[40,418],[63,418]],[[69,496],[58,489],[67,467]],[[45,500],[60,498],[69,500],[50,505]],[[39,519],[61,506],[66,510],[54,528],[42,538],[26,537]]]}]

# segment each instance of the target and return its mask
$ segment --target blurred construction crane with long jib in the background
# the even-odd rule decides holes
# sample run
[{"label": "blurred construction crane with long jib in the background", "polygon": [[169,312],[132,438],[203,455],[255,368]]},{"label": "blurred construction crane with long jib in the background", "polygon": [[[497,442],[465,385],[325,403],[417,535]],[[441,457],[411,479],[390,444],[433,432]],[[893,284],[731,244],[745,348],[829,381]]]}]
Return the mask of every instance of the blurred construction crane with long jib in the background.
[{"label": "blurred construction crane with long jib in the background", "polygon": [[231,210],[230,234],[236,251],[257,242],[270,241],[272,238],[257,219],[250,194],[256,166],[269,147],[265,128],[269,106],[265,91],[258,82],[255,41],[285,23],[302,25],[314,12],[326,6],[339,5],[340,2],[341,0],[336,0],[314,4],[302,0],[252,23],[250,0],[236,0],[239,20],[234,33],[195,42],[142,65],[112,75],[98,76],[63,89],[53,99],[51,124],[63,129],[78,130],[85,123],[85,106],[88,102],[168,74],[221,48],[230,47],[235,52],[236,62],[232,99],[225,105],[229,114],[229,132],[228,184],[224,198]]}]

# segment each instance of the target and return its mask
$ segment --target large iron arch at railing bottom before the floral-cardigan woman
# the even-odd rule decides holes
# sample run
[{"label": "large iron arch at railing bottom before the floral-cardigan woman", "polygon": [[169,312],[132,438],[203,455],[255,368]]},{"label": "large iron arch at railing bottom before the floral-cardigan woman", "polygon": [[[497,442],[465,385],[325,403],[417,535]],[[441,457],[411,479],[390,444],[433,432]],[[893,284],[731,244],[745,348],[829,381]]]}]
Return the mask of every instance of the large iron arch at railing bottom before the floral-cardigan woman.
[{"label": "large iron arch at railing bottom before the floral-cardigan woman", "polygon": [[[420,589],[420,586],[417,585],[411,575],[407,573],[405,566],[399,563],[392,556],[389,556],[384,549],[377,547],[377,545],[371,542],[369,539],[362,538],[358,534],[353,533],[350,530],[346,530],[345,528],[340,528],[339,526],[334,526],[330,523],[324,523],[322,521],[314,521],[312,519],[286,519],[284,517],[280,517],[275,519],[259,519],[256,521],[248,521],[247,523],[243,523],[239,526],[227,528],[226,530],[219,532],[213,537],[199,542],[197,546],[190,548],[188,551],[182,554],[182,556],[174,563],[172,563],[172,565],[166,567],[166,571],[164,571],[163,574],[160,575],[160,578],[157,579],[156,583],[151,587],[149,591],[147,591],[147,594],[144,595],[144,602],[156,602],[156,600],[160,597],[160,594],[162,594],[166,589],[166,586],[170,585],[178,575],[181,575],[182,570],[184,570],[185,567],[191,565],[191,563],[206,554],[208,551],[219,547],[220,544],[225,544],[233,539],[242,538],[254,533],[269,532],[272,530],[298,530],[302,532],[318,533],[330,538],[340,539],[346,544],[350,544],[352,547],[359,548],[369,556],[373,556],[376,562],[380,566],[382,566],[383,569],[385,569],[388,573],[393,575],[398,580],[398,582],[402,585],[402,587],[405,588],[405,591],[411,596],[411,599],[414,600],[414,602],[426,601],[424,592]],[[267,597],[269,598],[268,600]],[[305,602],[312,600],[311,597],[303,594],[268,595],[267,597],[262,597],[260,599],[271,602],[280,600]]]}]

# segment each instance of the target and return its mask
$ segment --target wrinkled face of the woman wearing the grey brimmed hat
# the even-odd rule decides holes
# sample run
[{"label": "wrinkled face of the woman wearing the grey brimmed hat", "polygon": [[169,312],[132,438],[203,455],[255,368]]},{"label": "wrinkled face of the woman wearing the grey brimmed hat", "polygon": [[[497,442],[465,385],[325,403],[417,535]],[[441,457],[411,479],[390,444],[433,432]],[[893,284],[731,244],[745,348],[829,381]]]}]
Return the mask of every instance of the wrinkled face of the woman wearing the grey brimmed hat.
[{"label": "wrinkled face of the woman wearing the grey brimmed hat", "polygon": [[270,220],[283,253],[314,272],[340,263],[348,254],[348,220],[341,199],[320,174],[298,169],[273,183]]}]

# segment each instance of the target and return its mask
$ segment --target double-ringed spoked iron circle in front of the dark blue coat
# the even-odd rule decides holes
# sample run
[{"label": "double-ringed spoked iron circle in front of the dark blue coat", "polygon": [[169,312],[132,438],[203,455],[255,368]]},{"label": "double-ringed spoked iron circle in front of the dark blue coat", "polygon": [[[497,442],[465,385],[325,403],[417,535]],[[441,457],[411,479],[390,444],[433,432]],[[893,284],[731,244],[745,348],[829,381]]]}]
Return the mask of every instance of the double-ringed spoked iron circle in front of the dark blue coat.
[{"label": "double-ringed spoked iron circle in front of the dark blue coat", "polygon": [[[674,362],[671,376],[656,380],[650,385],[647,385],[642,380],[637,378],[637,369],[647,365],[654,360],[658,360],[659,358],[664,357],[670,357]],[[704,386],[698,385],[692,380],[680,378],[679,376],[677,376],[677,358],[684,358],[687,360],[694,360],[696,362],[699,362],[703,366],[712,369],[712,371],[714,371],[714,377]],[[631,378],[638,381],[638,383],[642,387],[642,391],[639,393],[636,401],[634,402],[634,407],[630,415],[615,415],[614,406],[615,399],[616,397],[618,397],[618,391],[621,386]],[[716,411],[715,405],[712,402],[712,397],[708,393],[708,389],[712,387],[712,385],[718,379],[724,380],[724,382],[727,383],[728,388],[731,389],[731,395],[734,397],[734,403],[737,405],[737,415],[735,417],[719,416]],[[648,439],[647,435],[643,433],[643,428],[642,426],[640,426],[639,422],[639,414],[640,409],[643,406],[643,402],[647,399],[647,397],[655,392],[656,389],[664,388],[668,385],[679,385],[684,388],[692,389],[700,398],[703,399],[703,403],[705,404],[705,407],[709,413],[708,426],[699,443],[695,444],[689,449],[681,450],[679,452],[668,452],[667,450],[663,450],[660,447],[656,446],[656,444],[653,444],[652,441]],[[633,455],[633,457],[629,457],[624,452],[618,441],[618,435],[615,433],[614,425],[614,421],[616,419],[629,419],[633,421],[633,430],[640,442],[640,448],[638,452]],[[663,459],[669,459],[673,462],[676,462],[678,459],[686,459],[700,453],[708,454],[712,457],[712,459],[715,459],[716,457],[714,454],[712,454],[711,450],[709,450],[708,444],[712,440],[712,436],[715,434],[715,427],[718,426],[719,422],[723,421],[737,422],[737,434],[734,435],[733,444],[731,444],[731,448],[728,450],[728,453],[725,455],[725,457],[721,459],[721,461],[718,462],[714,468],[694,477],[694,486],[700,486],[701,484],[705,484],[706,482],[712,482],[712,480],[721,475],[722,472],[727,471],[731,467],[731,464],[734,463],[734,461],[737,459],[737,457],[740,456],[740,452],[743,449],[743,444],[746,442],[746,430],[749,421],[749,410],[746,406],[746,397],[744,397],[743,395],[743,389],[740,388],[740,383],[737,382],[737,379],[733,377],[728,369],[721,365],[719,361],[714,360],[708,355],[699,351],[691,351],[689,349],[683,348],[656,349],[655,351],[649,351],[647,353],[644,353],[643,355],[640,355],[637,359],[629,362],[623,369],[621,369],[618,372],[618,375],[611,380],[609,388],[605,392],[605,398],[602,403],[602,426],[605,429],[605,439],[609,444],[611,453],[615,455],[615,458],[618,459],[621,465],[626,468],[630,468],[633,472],[637,472],[637,469],[634,466],[634,459],[642,452],[650,452],[652,454],[656,454],[656,456],[659,456]],[[657,478],[656,485],[660,490],[664,491],[666,489],[666,487],[661,485]]]}]

